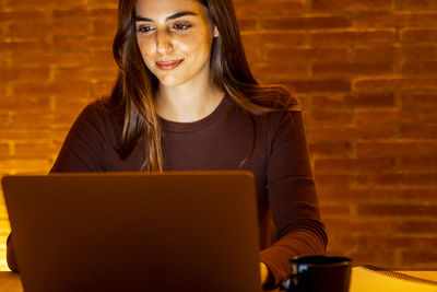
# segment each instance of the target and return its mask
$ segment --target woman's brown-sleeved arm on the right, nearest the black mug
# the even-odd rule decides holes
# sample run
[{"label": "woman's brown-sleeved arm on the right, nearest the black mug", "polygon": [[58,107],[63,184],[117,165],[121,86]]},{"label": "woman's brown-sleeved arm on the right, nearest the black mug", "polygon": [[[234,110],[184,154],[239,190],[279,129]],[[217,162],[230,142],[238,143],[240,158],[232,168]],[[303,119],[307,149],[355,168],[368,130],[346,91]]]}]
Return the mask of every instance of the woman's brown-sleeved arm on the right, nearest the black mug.
[{"label": "woman's brown-sleeved arm on the right, nearest the black mug", "polygon": [[269,287],[274,287],[288,276],[290,259],[324,254],[328,240],[320,222],[302,114],[284,114],[271,131],[267,187],[279,240],[261,252],[261,261],[271,273]]}]

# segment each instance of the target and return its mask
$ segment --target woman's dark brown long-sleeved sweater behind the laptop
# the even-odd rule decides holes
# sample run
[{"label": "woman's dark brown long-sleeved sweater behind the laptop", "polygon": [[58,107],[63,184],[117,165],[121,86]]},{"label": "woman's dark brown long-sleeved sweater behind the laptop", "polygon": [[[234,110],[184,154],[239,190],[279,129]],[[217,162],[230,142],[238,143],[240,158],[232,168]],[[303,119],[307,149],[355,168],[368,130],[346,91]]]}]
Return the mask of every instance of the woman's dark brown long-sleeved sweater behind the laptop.
[{"label": "woman's dark brown long-sleeved sweater behind the laptop", "polygon": [[[104,110],[102,102],[88,105],[71,128],[51,172],[139,171],[145,144],[140,142],[121,160],[116,151],[121,117]],[[261,235],[260,260],[277,284],[290,272],[296,255],[323,254],[327,235],[320,222],[305,130],[299,112],[253,116],[225,96],[217,108],[194,122],[161,120],[165,171],[235,170],[252,144],[255,150],[240,167],[253,172]],[[272,219],[274,224],[272,224]],[[271,245],[272,227],[276,237]],[[9,265],[17,270],[12,241]]]}]

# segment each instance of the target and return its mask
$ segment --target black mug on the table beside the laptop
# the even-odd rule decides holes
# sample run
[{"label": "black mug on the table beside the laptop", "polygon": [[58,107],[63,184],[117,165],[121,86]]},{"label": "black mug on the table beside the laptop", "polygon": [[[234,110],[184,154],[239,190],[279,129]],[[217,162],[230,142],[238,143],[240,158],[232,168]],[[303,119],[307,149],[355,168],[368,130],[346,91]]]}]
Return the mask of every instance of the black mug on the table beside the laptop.
[{"label": "black mug on the table beside the laptop", "polygon": [[287,292],[347,292],[352,260],[336,256],[304,256],[291,260],[292,273],[282,284]]}]

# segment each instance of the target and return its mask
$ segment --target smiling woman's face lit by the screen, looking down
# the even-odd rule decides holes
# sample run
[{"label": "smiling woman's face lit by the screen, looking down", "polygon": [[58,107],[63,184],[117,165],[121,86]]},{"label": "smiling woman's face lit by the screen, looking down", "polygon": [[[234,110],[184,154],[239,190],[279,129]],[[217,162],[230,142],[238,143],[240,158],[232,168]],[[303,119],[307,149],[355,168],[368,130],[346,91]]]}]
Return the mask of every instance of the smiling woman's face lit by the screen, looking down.
[{"label": "smiling woman's face lit by the screen, looking down", "polygon": [[147,68],[161,85],[209,80],[216,28],[196,0],[137,0],[137,39]]}]

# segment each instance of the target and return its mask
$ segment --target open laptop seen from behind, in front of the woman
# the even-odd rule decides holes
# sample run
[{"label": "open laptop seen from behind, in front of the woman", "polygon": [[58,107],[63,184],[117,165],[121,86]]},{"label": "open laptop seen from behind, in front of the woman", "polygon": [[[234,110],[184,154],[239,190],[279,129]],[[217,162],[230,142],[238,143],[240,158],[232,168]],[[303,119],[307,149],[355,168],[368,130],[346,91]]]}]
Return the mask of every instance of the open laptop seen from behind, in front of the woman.
[{"label": "open laptop seen from behind, in front of the woman", "polygon": [[261,291],[249,172],[2,179],[24,291]]}]

